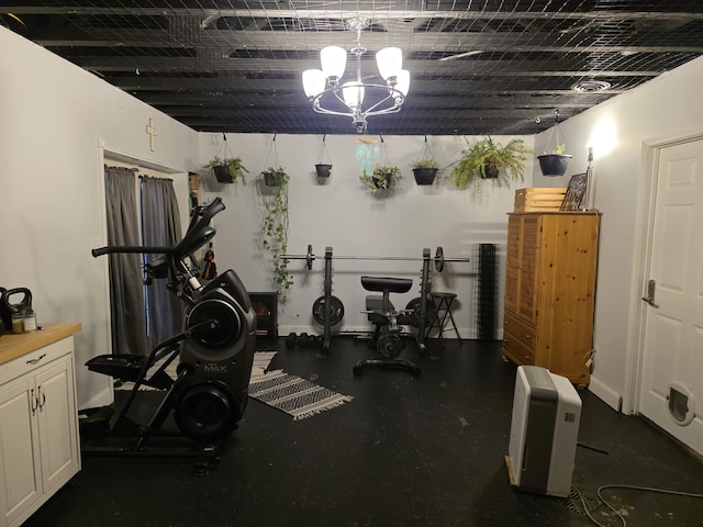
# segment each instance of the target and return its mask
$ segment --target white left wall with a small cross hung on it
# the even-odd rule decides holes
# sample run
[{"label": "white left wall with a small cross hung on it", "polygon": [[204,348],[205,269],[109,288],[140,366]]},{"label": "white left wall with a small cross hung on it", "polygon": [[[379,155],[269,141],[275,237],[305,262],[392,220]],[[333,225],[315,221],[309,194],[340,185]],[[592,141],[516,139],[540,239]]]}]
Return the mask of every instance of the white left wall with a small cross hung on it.
[{"label": "white left wall with a small cross hung on it", "polygon": [[[105,375],[82,365],[108,348],[102,143],[171,171],[198,165],[198,134],[98,77],[0,27],[0,284],[26,287],[40,323],[80,322],[79,405]],[[146,124],[158,128],[149,150]]]}]

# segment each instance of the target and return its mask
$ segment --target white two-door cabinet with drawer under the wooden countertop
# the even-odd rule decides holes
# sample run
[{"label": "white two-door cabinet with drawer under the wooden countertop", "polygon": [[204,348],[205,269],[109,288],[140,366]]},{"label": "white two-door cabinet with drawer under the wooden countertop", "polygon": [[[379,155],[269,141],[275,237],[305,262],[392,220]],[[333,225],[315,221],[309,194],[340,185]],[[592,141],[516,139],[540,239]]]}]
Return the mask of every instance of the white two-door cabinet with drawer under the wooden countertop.
[{"label": "white two-door cabinet with drawer under the wooden countertop", "polygon": [[78,473],[79,452],[72,335],[0,363],[0,527],[21,525]]}]

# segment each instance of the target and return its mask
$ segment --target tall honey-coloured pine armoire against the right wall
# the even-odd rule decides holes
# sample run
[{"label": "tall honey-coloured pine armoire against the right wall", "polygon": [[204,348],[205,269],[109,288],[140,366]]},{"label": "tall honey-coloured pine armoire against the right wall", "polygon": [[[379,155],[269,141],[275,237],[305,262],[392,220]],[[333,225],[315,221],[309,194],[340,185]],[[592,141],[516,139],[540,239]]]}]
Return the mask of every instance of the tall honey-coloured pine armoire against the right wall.
[{"label": "tall honey-coloured pine armoire against the right wall", "polygon": [[590,381],[600,214],[511,213],[503,356]]}]

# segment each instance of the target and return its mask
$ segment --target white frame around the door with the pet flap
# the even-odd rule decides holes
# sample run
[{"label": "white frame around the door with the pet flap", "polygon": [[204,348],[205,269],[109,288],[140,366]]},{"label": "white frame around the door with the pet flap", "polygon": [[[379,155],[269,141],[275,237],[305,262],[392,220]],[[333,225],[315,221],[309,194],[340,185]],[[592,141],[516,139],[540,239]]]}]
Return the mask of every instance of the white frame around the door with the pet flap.
[{"label": "white frame around the door with the pet flap", "polygon": [[[657,198],[657,173],[659,159],[663,148],[684,143],[703,139],[703,130],[682,132],[663,137],[652,137],[643,141],[640,167],[643,182],[637,197],[637,213],[635,217],[635,258],[631,291],[633,299],[629,311],[629,337],[626,349],[625,390],[623,393],[622,412],[625,414],[639,413],[639,392],[645,355],[645,322],[646,310],[641,298],[644,287],[650,273],[651,238]],[[639,233],[639,234],[637,234]]]}]

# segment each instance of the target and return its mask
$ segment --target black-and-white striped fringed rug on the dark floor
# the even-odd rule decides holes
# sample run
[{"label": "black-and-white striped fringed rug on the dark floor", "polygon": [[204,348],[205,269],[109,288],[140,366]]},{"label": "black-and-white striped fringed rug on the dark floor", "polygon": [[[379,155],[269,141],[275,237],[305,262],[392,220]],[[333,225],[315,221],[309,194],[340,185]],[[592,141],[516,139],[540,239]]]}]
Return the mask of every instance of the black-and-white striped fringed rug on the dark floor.
[{"label": "black-and-white striped fringed rug on the dark floor", "polygon": [[282,370],[269,371],[257,379],[253,378],[249,383],[249,396],[287,413],[293,421],[306,419],[354,399]]}]

